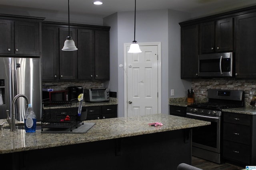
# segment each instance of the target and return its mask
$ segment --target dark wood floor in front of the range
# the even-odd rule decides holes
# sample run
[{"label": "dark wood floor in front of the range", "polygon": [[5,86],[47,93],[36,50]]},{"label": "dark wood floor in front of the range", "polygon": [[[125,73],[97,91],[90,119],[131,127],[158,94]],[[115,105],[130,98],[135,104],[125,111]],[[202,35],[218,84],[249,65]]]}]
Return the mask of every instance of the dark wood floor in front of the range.
[{"label": "dark wood floor in front of the range", "polygon": [[202,170],[242,170],[245,167],[240,167],[236,165],[232,165],[229,163],[224,164],[216,164],[214,162],[210,162],[204,159],[200,159],[192,156],[192,166],[200,168]]}]

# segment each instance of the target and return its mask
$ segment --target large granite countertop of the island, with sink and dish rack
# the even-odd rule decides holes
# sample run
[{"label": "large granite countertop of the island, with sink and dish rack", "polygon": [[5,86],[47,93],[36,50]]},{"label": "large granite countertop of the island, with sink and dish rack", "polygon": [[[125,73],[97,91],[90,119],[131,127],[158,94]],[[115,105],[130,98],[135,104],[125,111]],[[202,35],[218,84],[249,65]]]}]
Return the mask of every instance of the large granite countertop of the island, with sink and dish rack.
[{"label": "large granite countertop of the island, with sink and dish rack", "polygon": [[[0,119],[0,123],[6,119]],[[154,114],[134,117],[89,120],[96,125],[87,133],[26,133],[25,130],[10,129],[0,131],[0,154],[25,150],[43,149],[78,143],[87,143],[121,137],[130,137],[150,133],[173,131],[209,125],[210,122],[166,114]],[[161,122],[162,127],[149,126],[148,123]],[[16,122],[19,123],[19,122]],[[5,124],[7,126],[8,124]]]}]

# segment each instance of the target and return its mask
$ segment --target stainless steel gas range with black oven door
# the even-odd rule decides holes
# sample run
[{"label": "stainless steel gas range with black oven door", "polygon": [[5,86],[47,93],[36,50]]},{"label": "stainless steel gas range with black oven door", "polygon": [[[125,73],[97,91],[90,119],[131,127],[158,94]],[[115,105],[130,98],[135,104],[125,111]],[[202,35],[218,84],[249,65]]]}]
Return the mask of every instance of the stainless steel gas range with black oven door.
[{"label": "stainless steel gas range with black oven door", "polygon": [[220,164],[222,109],[244,107],[244,91],[208,90],[207,98],[187,107],[187,117],[211,122],[192,129],[192,155]]}]

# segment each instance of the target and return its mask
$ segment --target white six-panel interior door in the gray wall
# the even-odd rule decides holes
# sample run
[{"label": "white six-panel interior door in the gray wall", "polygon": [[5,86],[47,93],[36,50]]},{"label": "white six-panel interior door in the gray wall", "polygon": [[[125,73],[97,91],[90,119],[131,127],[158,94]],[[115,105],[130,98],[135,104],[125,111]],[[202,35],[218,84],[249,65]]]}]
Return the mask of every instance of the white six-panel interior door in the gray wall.
[{"label": "white six-panel interior door in the gray wall", "polygon": [[142,53],[127,53],[127,116],[159,113],[158,45],[141,45]]}]

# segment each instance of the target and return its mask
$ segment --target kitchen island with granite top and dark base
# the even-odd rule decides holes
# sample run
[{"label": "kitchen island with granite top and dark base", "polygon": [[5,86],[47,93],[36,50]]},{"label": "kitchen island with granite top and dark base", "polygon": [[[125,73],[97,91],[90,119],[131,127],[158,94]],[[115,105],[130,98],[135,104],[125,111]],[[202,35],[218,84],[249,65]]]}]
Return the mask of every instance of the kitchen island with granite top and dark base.
[{"label": "kitchen island with granite top and dark base", "polygon": [[191,128],[210,124],[165,114],[84,122],[96,124],[82,134],[0,131],[3,169],[174,169],[191,163]]}]

